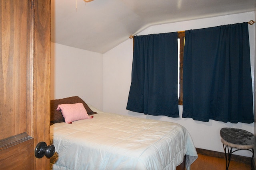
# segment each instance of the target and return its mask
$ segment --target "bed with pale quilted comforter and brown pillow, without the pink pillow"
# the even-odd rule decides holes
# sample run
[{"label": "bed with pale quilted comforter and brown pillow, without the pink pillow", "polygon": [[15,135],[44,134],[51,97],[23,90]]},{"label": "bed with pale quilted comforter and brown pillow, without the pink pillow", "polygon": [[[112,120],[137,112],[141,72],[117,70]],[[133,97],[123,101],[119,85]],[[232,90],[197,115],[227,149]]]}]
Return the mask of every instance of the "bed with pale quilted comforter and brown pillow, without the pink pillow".
[{"label": "bed with pale quilted comforter and brown pillow, without the pink pillow", "polygon": [[87,119],[66,123],[53,113],[58,104],[76,102],[84,101],[51,101],[53,170],[175,170],[182,162],[190,170],[198,157],[190,134],[177,123],[105,113],[85,102]]}]

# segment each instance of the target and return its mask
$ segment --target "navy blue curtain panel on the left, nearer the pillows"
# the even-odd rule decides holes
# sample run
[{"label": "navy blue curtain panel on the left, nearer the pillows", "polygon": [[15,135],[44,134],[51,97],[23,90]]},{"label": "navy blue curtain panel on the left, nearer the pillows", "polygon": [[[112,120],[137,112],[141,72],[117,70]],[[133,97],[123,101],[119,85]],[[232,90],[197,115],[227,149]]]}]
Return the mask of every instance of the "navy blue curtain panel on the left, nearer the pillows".
[{"label": "navy blue curtain panel on the left, nearer the pillows", "polygon": [[134,36],[132,82],[126,109],[179,117],[178,34]]}]

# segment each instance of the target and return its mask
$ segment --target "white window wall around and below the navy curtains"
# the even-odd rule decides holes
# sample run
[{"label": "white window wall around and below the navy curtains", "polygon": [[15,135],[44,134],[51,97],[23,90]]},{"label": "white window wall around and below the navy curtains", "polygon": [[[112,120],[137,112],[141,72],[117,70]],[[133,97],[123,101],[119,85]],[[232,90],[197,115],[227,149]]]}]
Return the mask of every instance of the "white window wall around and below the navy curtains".
[{"label": "white window wall around and below the navy curtains", "polygon": [[[166,33],[174,31],[184,31],[188,29],[199,29],[205,27],[214,27],[219,25],[248,22],[254,20],[254,12],[182,21],[177,23],[169,23],[164,25],[154,25],[145,29],[138,35],[145,35],[151,33]],[[255,24],[254,24],[255,25]],[[255,31],[254,25],[249,25],[250,36],[250,51],[252,63],[252,75],[254,82],[254,48],[255,48]],[[209,122],[194,121],[190,118],[171,118],[166,116],[152,116],[144,115],[143,113],[136,113],[126,110],[128,100],[128,93],[131,83],[132,70],[132,45],[133,40],[128,39],[121,43],[114,49],[108,51],[103,55],[103,104],[104,111],[120,113],[123,115],[132,115],[136,117],[144,117],[148,119],[156,119],[162,121],[172,121],[179,123],[186,127],[194,140],[194,145],[197,148],[214,150],[224,152],[222,143],[220,142],[220,129],[222,127],[234,127],[245,129],[253,133],[254,124],[246,123],[223,123],[220,121],[210,120]],[[254,84],[254,83],[253,83]],[[180,109],[180,117],[182,117],[182,106]],[[243,156],[251,156],[251,152],[238,151],[236,154]]]}]

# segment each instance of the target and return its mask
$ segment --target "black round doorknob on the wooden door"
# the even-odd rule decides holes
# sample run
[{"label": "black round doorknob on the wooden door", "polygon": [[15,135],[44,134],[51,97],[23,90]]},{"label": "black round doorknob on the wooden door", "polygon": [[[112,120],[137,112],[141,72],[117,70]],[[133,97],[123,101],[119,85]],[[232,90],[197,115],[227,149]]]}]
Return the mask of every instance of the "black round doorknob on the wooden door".
[{"label": "black round doorknob on the wooden door", "polygon": [[44,155],[47,158],[50,158],[54,155],[54,153],[55,153],[54,145],[47,146],[45,142],[39,142],[36,145],[36,149],[35,149],[36,158],[42,158],[44,157]]}]

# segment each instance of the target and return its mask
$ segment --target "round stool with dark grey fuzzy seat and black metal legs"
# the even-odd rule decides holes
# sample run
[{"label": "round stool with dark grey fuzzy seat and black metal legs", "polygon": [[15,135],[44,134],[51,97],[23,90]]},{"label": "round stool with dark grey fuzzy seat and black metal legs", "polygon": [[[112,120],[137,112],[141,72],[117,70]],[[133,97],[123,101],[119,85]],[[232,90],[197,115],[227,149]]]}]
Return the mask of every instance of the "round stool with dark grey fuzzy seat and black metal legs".
[{"label": "round stool with dark grey fuzzy seat and black metal legs", "polygon": [[[220,137],[225,150],[226,170],[228,170],[231,154],[238,150],[250,150],[252,152],[251,167],[253,169],[254,135],[252,133],[242,129],[222,128],[220,129]],[[226,146],[224,147],[224,145]],[[232,149],[236,150],[232,151]],[[228,150],[228,158],[226,150]]]}]

